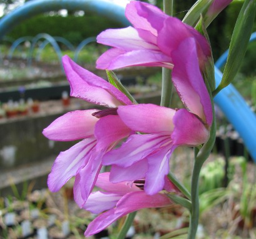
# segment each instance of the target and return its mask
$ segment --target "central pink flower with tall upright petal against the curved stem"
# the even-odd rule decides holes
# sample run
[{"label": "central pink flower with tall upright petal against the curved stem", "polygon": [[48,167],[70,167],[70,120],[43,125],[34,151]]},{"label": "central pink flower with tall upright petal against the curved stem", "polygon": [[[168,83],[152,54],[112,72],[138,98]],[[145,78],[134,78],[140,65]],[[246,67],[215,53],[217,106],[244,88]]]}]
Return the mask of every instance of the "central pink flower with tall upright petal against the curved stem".
[{"label": "central pink flower with tall upright petal against the curved stem", "polygon": [[163,189],[174,149],[206,143],[212,124],[210,96],[200,73],[195,40],[183,40],[172,52],[172,59],[172,80],[189,111],[150,104],[119,106],[117,113],[122,121],[143,134],[130,136],[102,160],[104,165],[112,165],[111,182],[145,178],[149,195]]}]

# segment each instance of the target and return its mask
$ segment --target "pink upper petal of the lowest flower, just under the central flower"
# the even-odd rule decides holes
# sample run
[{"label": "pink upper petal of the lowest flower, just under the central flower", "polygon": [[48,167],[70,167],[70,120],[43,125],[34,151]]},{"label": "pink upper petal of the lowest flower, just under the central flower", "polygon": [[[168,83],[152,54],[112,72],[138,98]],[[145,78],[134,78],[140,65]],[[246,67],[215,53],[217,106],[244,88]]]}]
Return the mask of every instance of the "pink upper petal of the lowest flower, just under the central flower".
[{"label": "pink upper petal of the lowest flower, just under the central flower", "polygon": [[109,172],[103,172],[102,174],[99,174],[95,185],[100,189],[106,190],[106,192],[111,192],[113,194],[119,195],[125,195],[128,192],[140,190],[138,187],[130,182],[118,182],[113,184],[109,180]]}]

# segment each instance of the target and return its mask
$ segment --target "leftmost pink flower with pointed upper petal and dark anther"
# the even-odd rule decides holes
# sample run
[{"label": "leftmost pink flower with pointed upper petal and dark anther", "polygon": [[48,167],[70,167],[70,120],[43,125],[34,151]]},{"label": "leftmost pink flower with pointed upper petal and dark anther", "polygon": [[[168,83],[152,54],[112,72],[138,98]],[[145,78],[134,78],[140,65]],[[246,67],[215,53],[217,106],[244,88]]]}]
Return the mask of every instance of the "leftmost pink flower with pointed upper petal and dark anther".
[{"label": "leftmost pink flower with pointed upper petal and dark anther", "polygon": [[117,115],[116,107],[132,105],[132,102],[106,80],[88,72],[69,57],[64,56],[62,62],[71,85],[71,96],[109,107],[107,110],[66,113],[43,131],[44,136],[51,140],[83,139],[57,156],[48,177],[49,189],[56,192],[67,180],[76,176],[74,197],[82,207],[94,187],[103,154],[131,133]]}]

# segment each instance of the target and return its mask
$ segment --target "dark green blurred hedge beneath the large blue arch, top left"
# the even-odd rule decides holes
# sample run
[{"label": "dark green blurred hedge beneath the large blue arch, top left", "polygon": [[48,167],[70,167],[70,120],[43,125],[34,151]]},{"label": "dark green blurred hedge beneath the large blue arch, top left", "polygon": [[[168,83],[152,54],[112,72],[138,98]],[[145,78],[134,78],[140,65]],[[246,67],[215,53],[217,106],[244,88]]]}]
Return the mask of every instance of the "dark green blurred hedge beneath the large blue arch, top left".
[{"label": "dark green blurred hedge beneath the large blue arch, top left", "polygon": [[64,37],[77,45],[87,37],[98,35],[102,30],[120,27],[122,26],[117,21],[111,21],[97,14],[86,14],[82,17],[39,15],[14,27],[8,36],[17,39],[26,35],[35,36],[39,33],[47,33]]}]

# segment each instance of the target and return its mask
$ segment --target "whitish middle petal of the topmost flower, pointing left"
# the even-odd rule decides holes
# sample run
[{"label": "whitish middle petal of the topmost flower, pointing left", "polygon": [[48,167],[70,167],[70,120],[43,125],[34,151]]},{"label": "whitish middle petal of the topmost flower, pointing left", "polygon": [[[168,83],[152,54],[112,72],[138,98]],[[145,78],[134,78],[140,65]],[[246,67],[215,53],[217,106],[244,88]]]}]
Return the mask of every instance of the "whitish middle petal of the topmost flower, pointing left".
[{"label": "whitish middle petal of the topmost flower, pointing left", "polygon": [[157,50],[158,47],[142,39],[134,27],[107,29],[97,36],[97,42],[122,50]]}]

